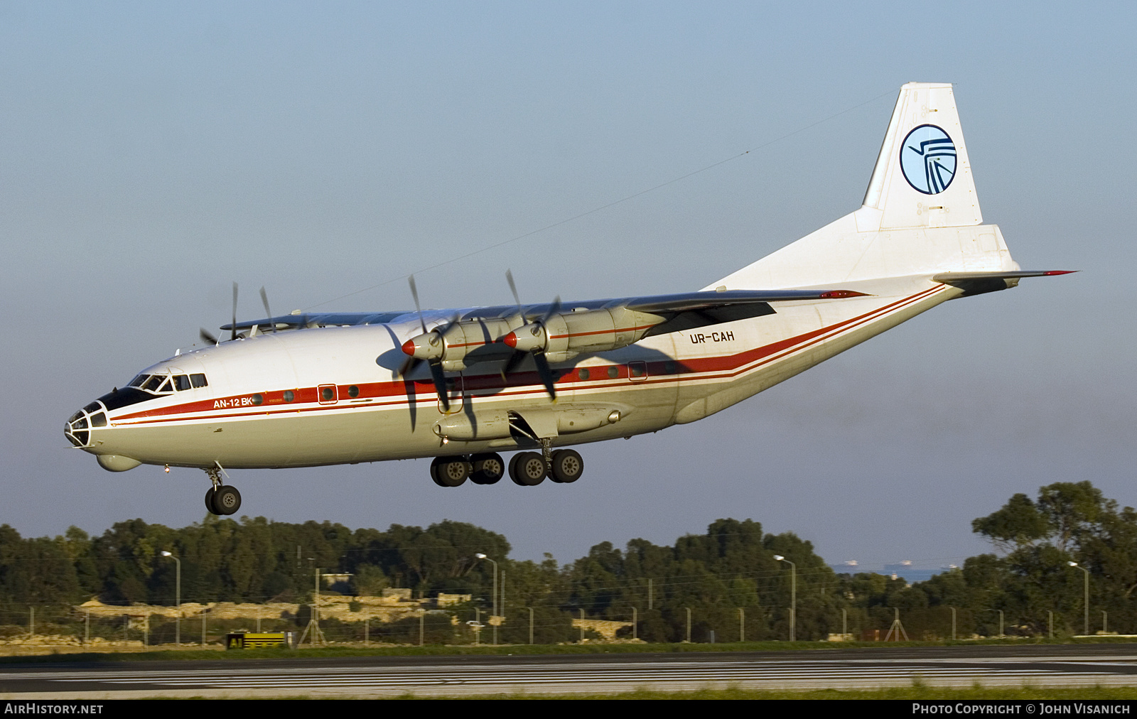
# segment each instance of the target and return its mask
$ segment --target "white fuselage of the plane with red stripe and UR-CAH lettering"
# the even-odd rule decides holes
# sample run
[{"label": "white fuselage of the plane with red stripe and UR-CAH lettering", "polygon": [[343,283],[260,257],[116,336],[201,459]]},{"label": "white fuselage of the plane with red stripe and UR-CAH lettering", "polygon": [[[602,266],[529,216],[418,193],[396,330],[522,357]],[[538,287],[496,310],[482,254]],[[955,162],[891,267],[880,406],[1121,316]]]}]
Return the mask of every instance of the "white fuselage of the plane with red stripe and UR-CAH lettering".
[{"label": "white fuselage of the plane with red stripe and UR-CAH lettering", "polygon": [[[630,437],[703,419],[960,294],[920,276],[853,284],[868,296],[777,303],[774,314],[554,364],[555,402],[532,361],[507,379],[503,363],[490,362],[447,374],[443,411],[424,366],[408,378],[392,369],[392,358],[402,357],[398,347],[421,332],[416,314],[224,341],[144,370],[205,374],[208,383],[107,412],[106,425],[92,428],[83,448],[108,469],[236,469],[536,446],[501,429],[509,413],[545,428],[541,437],[553,446]],[[454,311],[426,313],[428,325],[450,316]]]}]

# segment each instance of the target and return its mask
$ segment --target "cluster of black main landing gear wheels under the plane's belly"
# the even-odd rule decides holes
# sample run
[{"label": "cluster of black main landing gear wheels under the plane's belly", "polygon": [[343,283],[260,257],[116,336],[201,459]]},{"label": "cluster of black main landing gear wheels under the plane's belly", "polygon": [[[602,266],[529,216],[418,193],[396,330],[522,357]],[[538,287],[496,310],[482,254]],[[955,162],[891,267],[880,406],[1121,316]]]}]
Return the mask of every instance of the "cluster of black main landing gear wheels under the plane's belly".
[{"label": "cluster of black main landing gear wheels under the plane's belly", "polygon": [[[548,477],[555,482],[574,482],[584,473],[584,460],[575,449],[518,452],[509,460],[509,479],[522,487],[540,485]],[[439,487],[457,487],[467,479],[475,485],[492,485],[505,476],[506,464],[499,454],[435,457],[430,477]]]}]

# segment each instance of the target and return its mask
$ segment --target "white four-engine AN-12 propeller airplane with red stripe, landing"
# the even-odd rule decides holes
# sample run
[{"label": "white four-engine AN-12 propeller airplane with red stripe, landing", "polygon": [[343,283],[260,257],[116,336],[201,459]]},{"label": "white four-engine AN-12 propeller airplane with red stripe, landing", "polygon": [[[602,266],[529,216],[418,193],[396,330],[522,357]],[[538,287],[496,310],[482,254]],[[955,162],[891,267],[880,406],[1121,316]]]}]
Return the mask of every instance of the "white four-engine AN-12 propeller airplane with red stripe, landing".
[{"label": "white four-engine AN-12 propeller airplane with red stripe, landing", "polygon": [[[222,327],[142,370],[65,436],[106,470],[433,457],[442,487],[567,484],[571,446],[705,419],[940,303],[1018,286],[984,224],[951,84],[901,88],[862,205],[698,291],[423,311],[299,311]],[[515,452],[507,463],[499,453]]]}]

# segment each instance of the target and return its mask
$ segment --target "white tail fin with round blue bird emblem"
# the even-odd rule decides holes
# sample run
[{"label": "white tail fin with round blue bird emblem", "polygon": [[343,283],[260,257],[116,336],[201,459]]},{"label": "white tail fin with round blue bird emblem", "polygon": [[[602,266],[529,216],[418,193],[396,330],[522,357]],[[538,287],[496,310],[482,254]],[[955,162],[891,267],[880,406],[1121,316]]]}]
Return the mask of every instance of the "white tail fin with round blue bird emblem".
[{"label": "white tail fin with round blue bird emblem", "polygon": [[781,289],[945,272],[1014,271],[984,225],[952,85],[901,88],[860,209],[707,289]]}]

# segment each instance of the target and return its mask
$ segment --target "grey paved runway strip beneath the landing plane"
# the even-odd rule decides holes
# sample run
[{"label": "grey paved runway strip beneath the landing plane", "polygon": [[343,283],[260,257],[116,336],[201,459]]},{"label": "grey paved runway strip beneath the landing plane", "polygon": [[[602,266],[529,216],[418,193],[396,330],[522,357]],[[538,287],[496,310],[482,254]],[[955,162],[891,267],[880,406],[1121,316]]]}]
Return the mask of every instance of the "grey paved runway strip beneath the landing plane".
[{"label": "grey paved runway strip beneath the landing plane", "polygon": [[[929,647],[782,653],[375,656],[0,668],[0,697],[472,696],[875,688],[911,685],[1137,685],[1137,646]],[[977,651],[977,650],[996,650]],[[1056,650],[1056,651],[1055,651]]]}]

